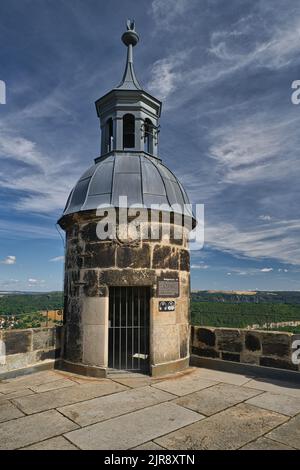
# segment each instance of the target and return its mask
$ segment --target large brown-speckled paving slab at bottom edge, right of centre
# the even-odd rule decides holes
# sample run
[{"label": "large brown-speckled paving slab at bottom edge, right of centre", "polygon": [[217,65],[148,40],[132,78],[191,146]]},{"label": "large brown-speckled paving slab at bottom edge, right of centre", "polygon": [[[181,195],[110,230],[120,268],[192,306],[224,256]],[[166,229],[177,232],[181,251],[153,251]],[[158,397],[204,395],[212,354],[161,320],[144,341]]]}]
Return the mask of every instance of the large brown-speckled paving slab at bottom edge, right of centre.
[{"label": "large brown-speckled paving slab at bottom edge, right of centre", "polygon": [[154,441],[174,450],[235,450],[287,419],[271,411],[240,404]]}]

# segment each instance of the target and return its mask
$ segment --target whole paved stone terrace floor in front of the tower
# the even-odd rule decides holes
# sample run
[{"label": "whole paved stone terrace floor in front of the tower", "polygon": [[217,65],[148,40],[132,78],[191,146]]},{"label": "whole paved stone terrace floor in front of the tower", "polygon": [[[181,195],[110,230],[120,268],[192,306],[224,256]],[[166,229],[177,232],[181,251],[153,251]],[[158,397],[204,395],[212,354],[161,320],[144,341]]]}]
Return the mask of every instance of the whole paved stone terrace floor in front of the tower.
[{"label": "whole paved stone terrace floor in front of the tower", "polygon": [[190,368],[0,382],[1,449],[300,449],[300,386]]}]

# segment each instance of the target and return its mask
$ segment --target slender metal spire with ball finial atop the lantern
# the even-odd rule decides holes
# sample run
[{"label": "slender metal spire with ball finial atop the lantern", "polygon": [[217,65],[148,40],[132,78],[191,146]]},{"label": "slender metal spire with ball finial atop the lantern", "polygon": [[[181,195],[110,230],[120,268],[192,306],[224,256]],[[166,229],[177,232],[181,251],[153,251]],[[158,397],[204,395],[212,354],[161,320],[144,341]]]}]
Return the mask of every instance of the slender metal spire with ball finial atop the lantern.
[{"label": "slender metal spire with ball finial atop the lantern", "polygon": [[135,31],[135,22],[127,20],[127,31],[122,35],[122,41],[127,46],[127,60],[124,75],[120,85],[117,87],[121,90],[141,90],[133,67],[133,47],[139,42],[139,35]]}]

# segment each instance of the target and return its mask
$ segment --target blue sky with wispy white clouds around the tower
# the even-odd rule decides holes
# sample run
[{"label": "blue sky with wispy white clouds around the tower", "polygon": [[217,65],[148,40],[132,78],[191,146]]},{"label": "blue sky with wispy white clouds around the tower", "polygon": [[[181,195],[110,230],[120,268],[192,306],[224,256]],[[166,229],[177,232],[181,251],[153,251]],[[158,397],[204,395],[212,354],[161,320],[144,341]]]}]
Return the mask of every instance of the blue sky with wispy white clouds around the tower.
[{"label": "blue sky with wispy white clouds around the tower", "polygon": [[99,155],[94,101],[135,70],[163,100],[160,156],[205,205],[192,288],[300,288],[300,4],[1,0],[0,290],[62,289],[55,222]]}]

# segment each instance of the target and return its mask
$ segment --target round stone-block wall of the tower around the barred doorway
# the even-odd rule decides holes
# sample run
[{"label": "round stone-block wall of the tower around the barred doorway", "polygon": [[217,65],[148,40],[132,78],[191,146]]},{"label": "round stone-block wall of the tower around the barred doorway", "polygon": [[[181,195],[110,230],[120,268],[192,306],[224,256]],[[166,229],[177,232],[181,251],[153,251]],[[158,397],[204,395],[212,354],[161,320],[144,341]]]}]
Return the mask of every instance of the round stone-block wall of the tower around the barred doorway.
[{"label": "round stone-block wall of the tower around the barred doorway", "polygon": [[[149,240],[150,227],[141,226],[138,240],[101,241],[99,217],[75,214],[66,218],[65,336],[63,358],[72,364],[107,367],[108,299],[110,286],[149,286],[151,367],[189,358],[190,257],[187,233],[176,226],[167,235],[158,223],[157,239]],[[178,231],[182,238],[178,239]],[[180,296],[175,312],[159,312],[157,279],[178,278]],[[68,365],[68,364],[67,364]],[[154,369],[152,367],[152,372]],[[177,366],[174,365],[174,368]],[[95,371],[96,373],[96,371]],[[100,372],[99,372],[100,373]]]}]

